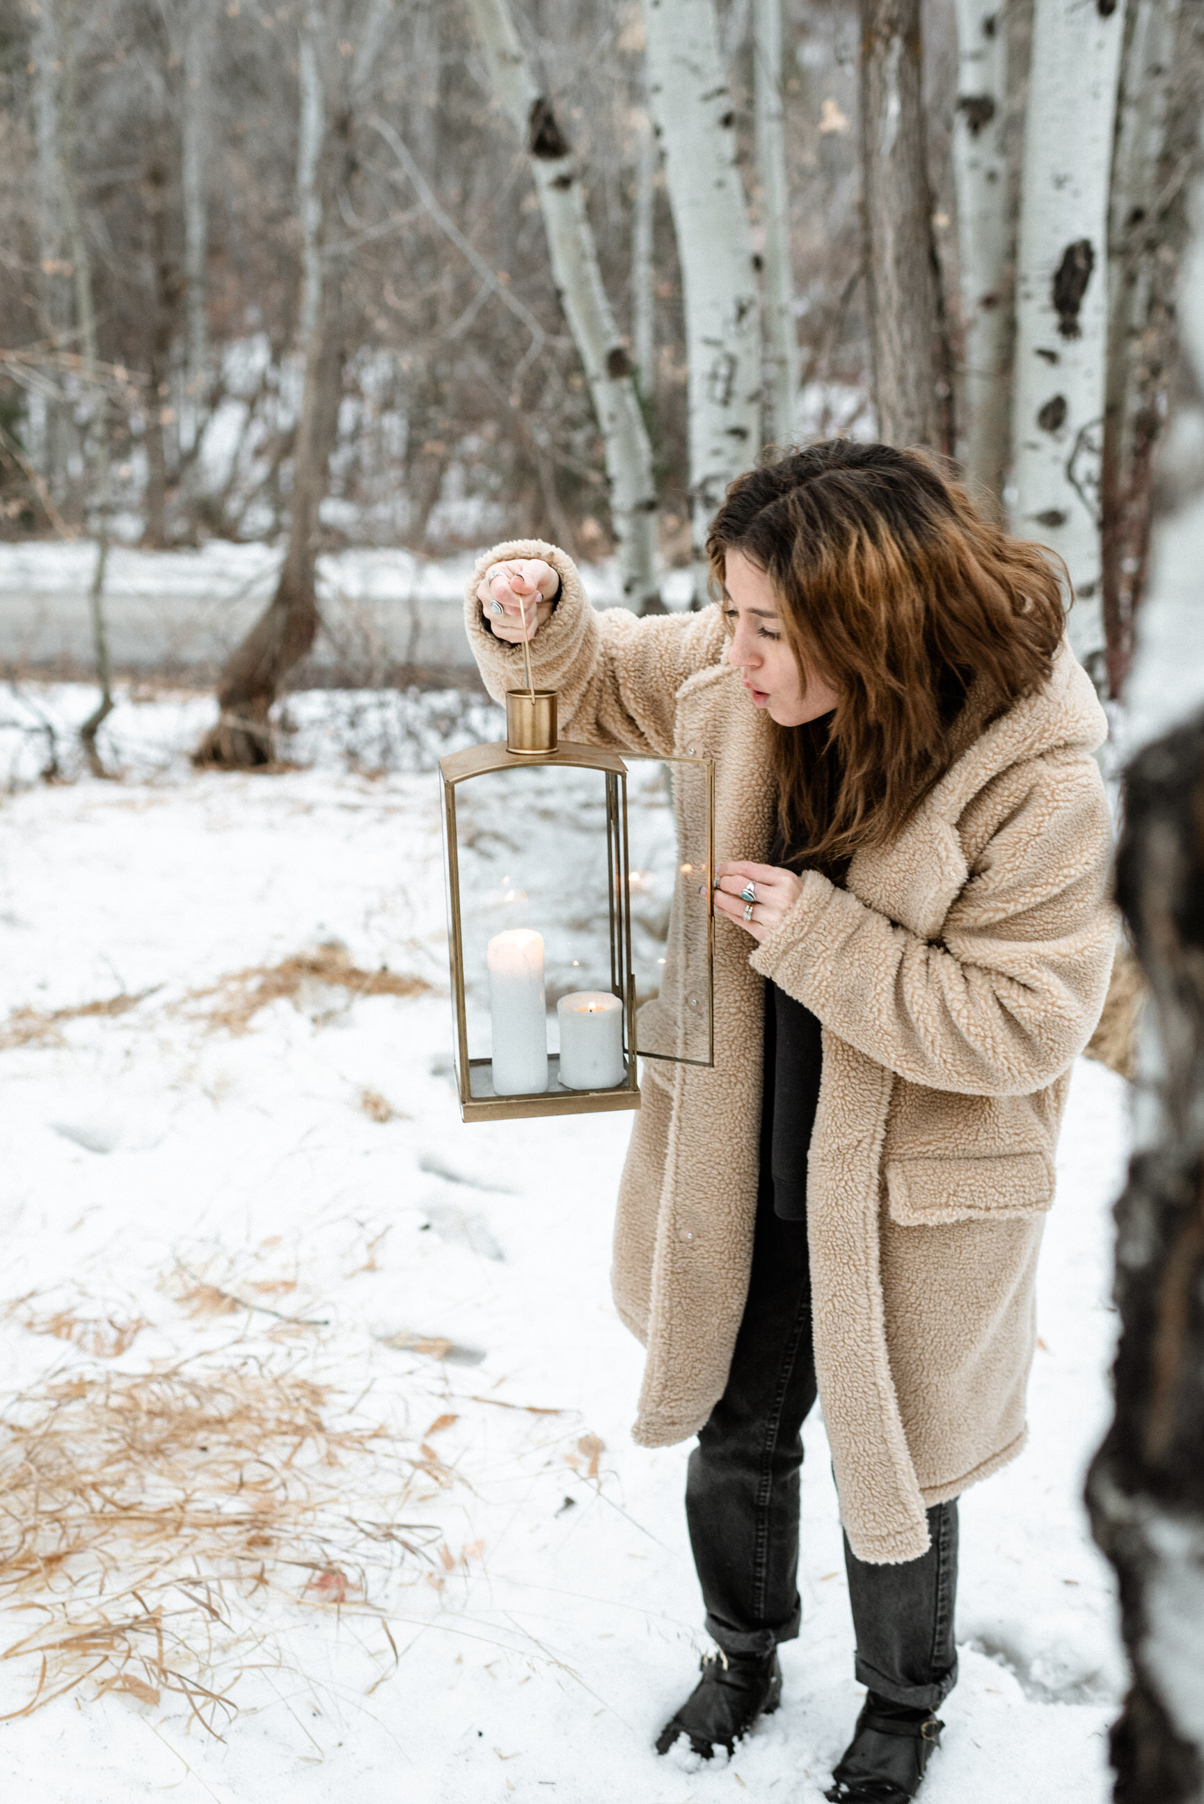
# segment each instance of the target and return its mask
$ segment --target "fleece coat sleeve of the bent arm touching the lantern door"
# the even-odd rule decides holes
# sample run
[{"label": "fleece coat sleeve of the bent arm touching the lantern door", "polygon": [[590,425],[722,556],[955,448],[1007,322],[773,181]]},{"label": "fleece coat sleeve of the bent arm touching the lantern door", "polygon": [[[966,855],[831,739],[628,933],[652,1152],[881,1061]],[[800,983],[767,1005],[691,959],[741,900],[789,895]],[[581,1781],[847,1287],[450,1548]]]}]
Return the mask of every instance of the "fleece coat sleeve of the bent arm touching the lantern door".
[{"label": "fleece coat sleeve of the bent arm touching the lantern door", "polygon": [[818,871],[753,967],[912,1084],[1029,1095],[1090,1039],[1116,925],[1108,808],[1090,758],[1023,767],[937,942]]}]

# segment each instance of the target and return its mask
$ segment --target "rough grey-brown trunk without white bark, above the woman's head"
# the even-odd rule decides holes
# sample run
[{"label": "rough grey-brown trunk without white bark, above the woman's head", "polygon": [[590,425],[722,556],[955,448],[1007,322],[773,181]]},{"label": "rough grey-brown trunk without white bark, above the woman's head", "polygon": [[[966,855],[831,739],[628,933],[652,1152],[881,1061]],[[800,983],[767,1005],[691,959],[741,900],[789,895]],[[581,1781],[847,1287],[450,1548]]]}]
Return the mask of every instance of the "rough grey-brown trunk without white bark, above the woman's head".
[{"label": "rough grey-brown trunk without white bark, above the woman's head", "polygon": [[877,435],[892,446],[944,449],[948,382],[922,76],[921,0],[861,0],[861,170]]}]

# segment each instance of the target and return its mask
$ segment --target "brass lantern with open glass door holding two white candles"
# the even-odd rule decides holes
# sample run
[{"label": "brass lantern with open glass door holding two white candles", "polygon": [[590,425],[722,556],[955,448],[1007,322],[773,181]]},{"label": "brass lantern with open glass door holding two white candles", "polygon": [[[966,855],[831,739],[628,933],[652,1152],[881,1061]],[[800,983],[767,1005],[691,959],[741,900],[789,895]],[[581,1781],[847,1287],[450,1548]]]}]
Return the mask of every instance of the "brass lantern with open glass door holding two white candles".
[{"label": "brass lantern with open glass door holding two white candles", "polygon": [[637,1054],[713,1064],[713,763],[561,743],[531,687],[439,774],[462,1118],[637,1109]]}]

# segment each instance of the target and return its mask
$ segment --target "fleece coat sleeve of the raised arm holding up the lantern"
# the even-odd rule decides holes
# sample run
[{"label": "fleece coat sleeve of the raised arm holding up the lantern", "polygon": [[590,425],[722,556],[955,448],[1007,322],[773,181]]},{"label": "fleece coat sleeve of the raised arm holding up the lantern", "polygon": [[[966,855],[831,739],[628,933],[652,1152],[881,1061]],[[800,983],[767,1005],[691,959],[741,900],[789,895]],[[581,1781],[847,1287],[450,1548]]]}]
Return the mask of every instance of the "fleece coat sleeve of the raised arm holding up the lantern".
[{"label": "fleece coat sleeve of the raised arm holding up the lantern", "polygon": [[597,612],[572,557],[543,539],[507,539],[477,561],[464,610],[468,642],[495,702],[525,687],[522,646],[493,637],[477,599],[484,572],[507,557],[542,557],[560,575],[556,612],[531,640],[531,673],[556,689],[561,729],[585,745],[671,752],[677,691],[724,649],[718,610],[646,619],[628,608]]}]

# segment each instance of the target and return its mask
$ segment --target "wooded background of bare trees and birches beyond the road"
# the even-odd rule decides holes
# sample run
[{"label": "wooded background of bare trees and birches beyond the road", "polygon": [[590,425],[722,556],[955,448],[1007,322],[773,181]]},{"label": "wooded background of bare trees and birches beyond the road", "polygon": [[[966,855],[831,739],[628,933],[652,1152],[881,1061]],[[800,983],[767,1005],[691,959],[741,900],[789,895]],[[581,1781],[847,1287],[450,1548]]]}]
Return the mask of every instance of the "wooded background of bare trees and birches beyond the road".
[{"label": "wooded background of bare trees and birches beyond the road", "polygon": [[2,0],[0,530],[287,543],[224,691],[262,720],[321,548],[547,534],[657,608],[762,442],[879,435],[1065,557],[1117,696],[1202,41],[1188,0]]}]

